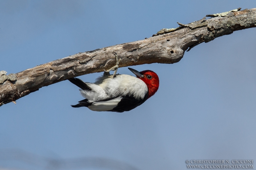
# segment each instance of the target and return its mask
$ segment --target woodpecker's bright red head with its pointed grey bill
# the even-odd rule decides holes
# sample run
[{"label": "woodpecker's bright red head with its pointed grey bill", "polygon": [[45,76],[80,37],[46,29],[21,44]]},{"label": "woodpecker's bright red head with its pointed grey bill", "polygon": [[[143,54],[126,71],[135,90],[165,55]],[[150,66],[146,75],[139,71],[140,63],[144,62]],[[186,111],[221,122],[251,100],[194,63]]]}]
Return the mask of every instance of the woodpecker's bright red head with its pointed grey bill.
[{"label": "woodpecker's bright red head with its pointed grey bill", "polygon": [[144,71],[137,71],[131,68],[131,70],[137,78],[140,78],[147,86],[148,86],[148,98],[153,96],[159,87],[159,78],[154,71],[151,70],[144,70]]}]

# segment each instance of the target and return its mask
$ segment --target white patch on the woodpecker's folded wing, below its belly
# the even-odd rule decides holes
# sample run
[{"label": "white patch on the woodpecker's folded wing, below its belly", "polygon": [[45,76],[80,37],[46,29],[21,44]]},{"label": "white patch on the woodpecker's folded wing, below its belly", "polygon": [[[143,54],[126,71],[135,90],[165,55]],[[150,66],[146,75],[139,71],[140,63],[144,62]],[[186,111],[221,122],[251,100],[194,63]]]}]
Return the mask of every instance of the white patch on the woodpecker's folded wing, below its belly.
[{"label": "white patch on the woodpecker's folded wing, below its belly", "polygon": [[108,101],[96,101],[96,102],[93,102],[91,106],[88,106],[88,108],[93,111],[112,110],[117,106],[118,102],[120,102],[121,99],[122,97],[118,97],[116,99],[112,99]]}]

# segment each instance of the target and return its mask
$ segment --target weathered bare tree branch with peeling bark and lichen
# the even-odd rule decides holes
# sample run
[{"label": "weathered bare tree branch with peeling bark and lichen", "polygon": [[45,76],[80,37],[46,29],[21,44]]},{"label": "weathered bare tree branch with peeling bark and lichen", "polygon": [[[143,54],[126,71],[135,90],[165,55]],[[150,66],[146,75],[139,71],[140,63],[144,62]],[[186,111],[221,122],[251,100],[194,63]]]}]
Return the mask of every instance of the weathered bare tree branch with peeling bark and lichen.
[{"label": "weathered bare tree branch with peeling bark and lichen", "polygon": [[122,59],[119,67],[177,63],[187,49],[189,51],[202,42],[212,41],[237,30],[256,27],[256,8],[239,10],[208,15],[213,18],[204,17],[186,25],[178,23],[180,27],[163,29],[145,40],[78,53],[16,74],[6,75],[5,71],[1,71],[0,106],[16,101],[43,86],[107,70],[116,63],[112,52],[116,52]]}]

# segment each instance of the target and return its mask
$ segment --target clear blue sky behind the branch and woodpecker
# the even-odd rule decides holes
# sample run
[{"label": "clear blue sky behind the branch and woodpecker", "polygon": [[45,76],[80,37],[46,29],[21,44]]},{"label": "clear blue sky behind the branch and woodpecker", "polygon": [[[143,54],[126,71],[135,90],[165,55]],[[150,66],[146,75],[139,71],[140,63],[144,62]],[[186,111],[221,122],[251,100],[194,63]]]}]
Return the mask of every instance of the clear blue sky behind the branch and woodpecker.
[{"label": "clear blue sky behind the branch and woodpecker", "polygon": [[[2,0],[0,70],[142,40],[238,7],[256,2]],[[155,71],[160,87],[129,112],[70,107],[83,98],[69,81],[1,106],[0,169],[169,170],[187,169],[191,159],[255,160],[255,31],[202,43],[178,63],[133,66]],[[94,82],[101,74],[79,78]]]}]

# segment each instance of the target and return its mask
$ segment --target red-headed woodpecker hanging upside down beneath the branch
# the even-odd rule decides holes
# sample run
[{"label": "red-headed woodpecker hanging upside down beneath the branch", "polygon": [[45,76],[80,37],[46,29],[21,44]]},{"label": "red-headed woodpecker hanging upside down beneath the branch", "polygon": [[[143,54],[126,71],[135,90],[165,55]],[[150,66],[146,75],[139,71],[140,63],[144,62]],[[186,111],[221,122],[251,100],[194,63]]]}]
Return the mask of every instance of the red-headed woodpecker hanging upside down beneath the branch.
[{"label": "red-headed woodpecker hanging upside down beneath the branch", "polygon": [[80,87],[81,95],[86,98],[72,107],[88,107],[93,111],[124,112],[140,106],[153,96],[159,86],[157,74],[151,70],[137,71],[131,68],[137,77],[125,74],[103,74],[95,83],[84,83],[79,78],[68,79]]}]

